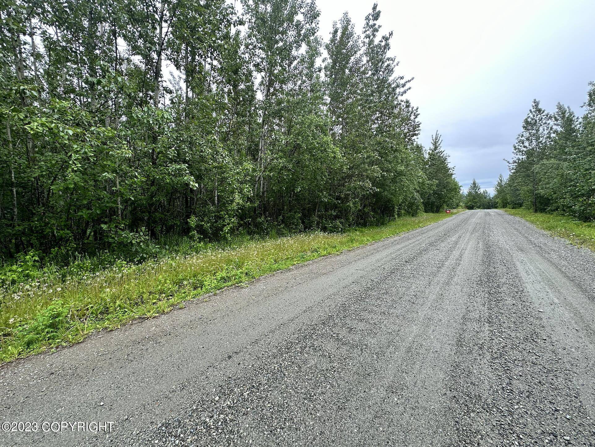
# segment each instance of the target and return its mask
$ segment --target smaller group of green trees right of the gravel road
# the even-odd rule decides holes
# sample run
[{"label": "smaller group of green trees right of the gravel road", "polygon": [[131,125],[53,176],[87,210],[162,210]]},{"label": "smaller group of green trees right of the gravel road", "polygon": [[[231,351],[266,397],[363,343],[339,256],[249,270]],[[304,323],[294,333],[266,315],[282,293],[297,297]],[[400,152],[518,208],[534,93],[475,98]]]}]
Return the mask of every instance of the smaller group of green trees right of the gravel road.
[{"label": "smaller group of green trees right of the gravel road", "polygon": [[548,113],[533,101],[513,146],[511,173],[496,185],[498,206],[595,220],[595,83],[589,87],[582,117],[560,103]]}]

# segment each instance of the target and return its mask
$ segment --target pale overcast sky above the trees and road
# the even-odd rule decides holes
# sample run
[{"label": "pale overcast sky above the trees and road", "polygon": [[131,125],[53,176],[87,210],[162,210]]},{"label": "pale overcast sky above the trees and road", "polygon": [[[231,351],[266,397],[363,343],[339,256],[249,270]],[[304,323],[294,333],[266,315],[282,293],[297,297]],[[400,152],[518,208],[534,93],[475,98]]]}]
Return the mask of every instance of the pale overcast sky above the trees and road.
[{"label": "pale overcast sky above the trees and road", "polygon": [[[400,73],[421,112],[424,146],[438,130],[466,188],[491,191],[531,100],[582,114],[595,80],[595,0],[378,0]],[[348,11],[358,30],[374,1],[318,0],[320,29]]]}]

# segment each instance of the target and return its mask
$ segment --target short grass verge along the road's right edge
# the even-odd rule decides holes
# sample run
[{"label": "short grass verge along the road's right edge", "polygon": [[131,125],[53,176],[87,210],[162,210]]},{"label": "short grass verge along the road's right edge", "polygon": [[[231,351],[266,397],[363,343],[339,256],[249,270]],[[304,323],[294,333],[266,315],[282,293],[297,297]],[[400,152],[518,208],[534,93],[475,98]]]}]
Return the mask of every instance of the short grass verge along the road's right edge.
[{"label": "short grass verge along the road's right edge", "polygon": [[507,213],[525,219],[537,228],[552,235],[564,238],[578,247],[590,248],[595,251],[595,223],[575,221],[568,216],[548,213],[534,213],[531,210],[505,209]]}]

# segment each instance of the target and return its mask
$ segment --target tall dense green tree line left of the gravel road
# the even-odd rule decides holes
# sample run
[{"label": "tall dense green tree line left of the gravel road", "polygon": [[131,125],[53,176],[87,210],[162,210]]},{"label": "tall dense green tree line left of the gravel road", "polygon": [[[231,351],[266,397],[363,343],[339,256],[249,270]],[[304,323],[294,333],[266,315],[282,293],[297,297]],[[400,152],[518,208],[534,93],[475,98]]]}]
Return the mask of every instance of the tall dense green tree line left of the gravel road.
[{"label": "tall dense green tree line left of the gravel road", "polygon": [[[0,253],[168,234],[340,230],[459,202],[376,5],[327,42],[314,1],[8,0]],[[323,57],[324,55],[324,57]]]}]

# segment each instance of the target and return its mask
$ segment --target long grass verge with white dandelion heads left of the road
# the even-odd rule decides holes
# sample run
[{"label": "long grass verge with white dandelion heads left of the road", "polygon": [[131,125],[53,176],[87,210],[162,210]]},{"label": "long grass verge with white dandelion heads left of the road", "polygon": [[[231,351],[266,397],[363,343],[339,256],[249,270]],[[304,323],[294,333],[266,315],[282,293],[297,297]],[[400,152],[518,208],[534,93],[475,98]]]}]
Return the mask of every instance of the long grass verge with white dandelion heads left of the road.
[{"label": "long grass verge with white dandelion heads left of the road", "polygon": [[422,214],[342,234],[311,232],[236,244],[201,244],[198,253],[176,253],[140,264],[117,262],[97,272],[60,275],[49,269],[45,276],[0,288],[0,363],[73,344],[93,330],[151,318],[184,300],[448,216]]}]

